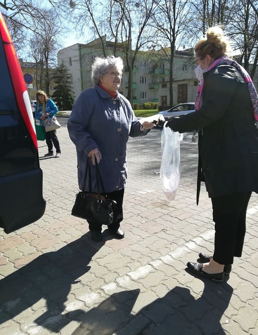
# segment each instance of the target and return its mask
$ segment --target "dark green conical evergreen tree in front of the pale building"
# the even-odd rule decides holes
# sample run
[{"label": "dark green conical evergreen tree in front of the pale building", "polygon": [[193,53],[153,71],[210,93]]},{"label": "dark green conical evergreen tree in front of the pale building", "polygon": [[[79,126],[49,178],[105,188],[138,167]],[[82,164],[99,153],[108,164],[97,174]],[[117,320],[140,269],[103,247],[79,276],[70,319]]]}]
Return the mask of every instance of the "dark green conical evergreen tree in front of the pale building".
[{"label": "dark green conical evergreen tree in front of the pale building", "polygon": [[68,68],[61,63],[54,73],[53,82],[56,83],[52,99],[59,111],[69,111],[74,105],[74,91],[72,78]]}]

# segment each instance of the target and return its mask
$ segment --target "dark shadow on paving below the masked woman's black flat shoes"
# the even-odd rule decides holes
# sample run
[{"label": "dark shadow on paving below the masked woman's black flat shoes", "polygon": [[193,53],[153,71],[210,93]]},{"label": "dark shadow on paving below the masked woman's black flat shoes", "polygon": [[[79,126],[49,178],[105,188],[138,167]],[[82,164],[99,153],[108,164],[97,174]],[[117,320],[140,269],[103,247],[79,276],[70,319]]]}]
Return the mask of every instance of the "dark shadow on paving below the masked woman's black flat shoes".
[{"label": "dark shadow on paving below the masked woman's black flat shoes", "polygon": [[225,335],[220,320],[233,293],[233,288],[226,281],[203,280],[204,290],[198,298],[191,295],[189,288],[175,286],[137,314],[131,313],[131,310],[137,300],[138,289],[114,293],[88,313],[79,315],[76,320],[81,325],[72,335],[131,334],[136,324],[139,334],[153,325],[155,330],[150,333],[155,335]]}]

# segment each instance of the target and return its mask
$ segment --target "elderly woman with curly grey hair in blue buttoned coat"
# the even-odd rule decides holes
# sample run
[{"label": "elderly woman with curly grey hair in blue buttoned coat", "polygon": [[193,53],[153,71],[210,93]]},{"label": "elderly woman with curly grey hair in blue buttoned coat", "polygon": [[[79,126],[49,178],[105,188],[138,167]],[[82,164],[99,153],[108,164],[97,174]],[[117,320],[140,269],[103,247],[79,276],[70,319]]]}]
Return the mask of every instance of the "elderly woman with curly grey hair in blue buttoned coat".
[{"label": "elderly woman with curly grey hair in blue buttoned coat", "polygon": [[[96,157],[105,194],[117,202],[108,229],[120,239],[124,237],[120,222],[127,178],[126,143],[129,136],[145,136],[154,126],[149,122],[141,125],[129,101],[118,92],[122,70],[120,57],[97,57],[92,65],[95,86],[81,93],[68,120],[68,132],[77,150],[79,188],[82,190],[87,158],[91,157],[91,164],[95,165]],[[97,193],[95,170],[91,169],[92,192]],[[89,191],[88,180],[83,191]],[[102,241],[102,225],[88,223],[91,238]]]}]

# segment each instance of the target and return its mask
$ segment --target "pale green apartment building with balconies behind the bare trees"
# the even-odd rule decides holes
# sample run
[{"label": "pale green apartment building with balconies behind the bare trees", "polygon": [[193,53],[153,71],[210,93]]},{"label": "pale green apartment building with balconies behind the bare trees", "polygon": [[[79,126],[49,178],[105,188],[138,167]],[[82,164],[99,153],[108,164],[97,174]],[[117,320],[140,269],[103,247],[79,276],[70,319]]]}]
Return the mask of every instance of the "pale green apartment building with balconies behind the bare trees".
[{"label": "pale green apartment building with balconies behind the bare trees", "polygon": [[[68,67],[74,85],[75,98],[89,87],[91,82],[91,65],[96,56],[103,57],[102,42],[106,55],[116,55],[125,59],[120,44],[108,42],[105,36],[87,44],[75,44],[59,50],[58,63],[64,62]],[[198,81],[192,65],[192,49],[177,51],[173,62],[173,104],[194,102]],[[124,61],[124,64],[126,62]],[[127,96],[129,68],[124,67],[120,93]],[[141,51],[137,55],[132,71],[133,103],[158,102],[160,109],[170,106],[169,100],[169,63],[161,50]]]}]

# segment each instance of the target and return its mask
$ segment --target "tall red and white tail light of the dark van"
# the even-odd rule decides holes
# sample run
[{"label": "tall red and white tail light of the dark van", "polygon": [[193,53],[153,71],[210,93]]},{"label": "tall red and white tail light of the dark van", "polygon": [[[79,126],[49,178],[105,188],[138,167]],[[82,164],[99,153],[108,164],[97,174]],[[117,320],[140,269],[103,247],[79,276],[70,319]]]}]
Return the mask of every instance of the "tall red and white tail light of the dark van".
[{"label": "tall red and white tail light of the dark van", "polygon": [[38,148],[37,137],[28,91],[26,89],[25,81],[21,71],[21,66],[16,51],[14,49],[12,39],[10,37],[8,28],[5,24],[1,12],[0,12],[0,36],[3,43],[3,49],[10,73],[11,82],[13,85],[13,91],[15,94],[16,103],[21,113],[22,119],[25,123],[25,126],[28,130],[28,133],[37,149]]}]

